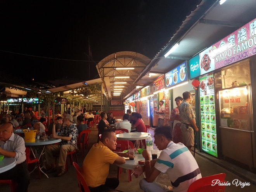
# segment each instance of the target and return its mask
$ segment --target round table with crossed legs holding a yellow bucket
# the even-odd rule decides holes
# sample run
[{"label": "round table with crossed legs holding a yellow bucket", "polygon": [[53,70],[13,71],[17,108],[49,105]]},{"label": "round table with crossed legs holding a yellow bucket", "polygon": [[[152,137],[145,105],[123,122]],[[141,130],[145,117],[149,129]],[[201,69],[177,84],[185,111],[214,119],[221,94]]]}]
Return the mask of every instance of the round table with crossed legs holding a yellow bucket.
[{"label": "round table with crossed legs holding a yellow bucket", "polygon": [[[36,139],[35,142],[25,142],[25,145],[30,147],[31,152],[32,152],[32,154],[33,154],[33,156],[34,156],[35,158],[36,158],[36,156],[35,156],[35,153],[34,153],[34,151],[33,151],[33,149],[32,149],[32,146],[38,146],[38,145],[43,146],[43,149],[42,149],[42,151],[41,151],[41,153],[40,153],[40,155],[39,155],[39,157],[38,157],[38,161],[40,161],[40,158],[41,158],[42,154],[43,154],[44,151],[45,151],[45,146],[46,146],[46,145],[49,145],[49,144],[59,143],[59,142],[61,142],[61,139],[57,139],[57,138],[50,138],[50,139],[48,139],[48,140],[46,140],[46,141],[45,141],[45,140],[42,140],[42,139]],[[34,170],[36,169],[36,167],[37,167],[37,166],[35,166]],[[42,167],[39,167],[40,171],[41,171],[47,178],[49,178],[48,175],[47,175],[45,172],[43,172],[42,168],[43,168],[43,166],[42,166]],[[33,170],[33,171],[34,171],[34,170]],[[31,171],[31,172],[33,172],[33,171]],[[30,172],[30,173],[31,173],[31,172]]]}]

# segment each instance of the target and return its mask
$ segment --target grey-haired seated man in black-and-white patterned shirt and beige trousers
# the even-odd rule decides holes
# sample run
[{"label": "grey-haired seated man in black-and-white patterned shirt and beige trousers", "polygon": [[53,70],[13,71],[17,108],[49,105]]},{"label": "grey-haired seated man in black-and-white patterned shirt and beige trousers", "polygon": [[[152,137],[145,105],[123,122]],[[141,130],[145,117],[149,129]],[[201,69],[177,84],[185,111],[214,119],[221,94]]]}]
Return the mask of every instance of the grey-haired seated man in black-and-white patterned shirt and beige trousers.
[{"label": "grey-haired seated man in black-and-white patterned shirt and beige trousers", "polygon": [[78,130],[74,124],[72,124],[72,116],[68,114],[66,118],[63,118],[63,125],[65,125],[59,132],[59,135],[56,134],[56,124],[60,123],[60,120],[55,120],[52,127],[51,138],[60,138],[62,139],[59,145],[50,144],[45,147],[45,157],[47,162],[47,173],[57,171],[55,164],[55,154],[59,154],[59,170],[57,171],[56,176],[62,176],[66,173],[65,164],[67,158],[67,152],[71,152],[77,149],[77,138]]}]

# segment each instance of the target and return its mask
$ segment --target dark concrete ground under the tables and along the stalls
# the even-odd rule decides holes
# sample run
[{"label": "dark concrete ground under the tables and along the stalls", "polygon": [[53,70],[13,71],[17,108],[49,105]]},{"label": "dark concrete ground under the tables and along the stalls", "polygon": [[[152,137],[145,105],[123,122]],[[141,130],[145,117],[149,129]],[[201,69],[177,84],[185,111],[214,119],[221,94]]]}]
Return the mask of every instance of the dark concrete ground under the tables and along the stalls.
[{"label": "dark concrete ground under the tables and along the stalls", "polygon": [[[90,145],[97,142],[97,129],[96,126],[91,129],[90,134]],[[154,130],[150,128],[149,131],[152,135],[154,134]],[[87,151],[86,151],[87,153]],[[83,163],[83,157],[81,153],[78,154],[78,164],[81,166]],[[226,179],[230,184],[225,189],[225,192],[255,192],[256,191],[256,174],[244,170],[240,167],[235,166],[234,164],[230,164],[227,161],[223,161],[220,159],[216,159],[211,157],[205,153],[196,151],[195,159],[199,165],[202,176],[209,176],[218,173],[226,173]],[[93,162],[92,162],[93,163]],[[34,171],[31,173],[31,182],[29,184],[28,191],[29,192],[79,192],[79,188],[77,187],[78,181],[76,178],[76,173],[73,168],[69,164],[69,171],[63,175],[62,177],[55,177],[54,173],[48,174],[49,178],[46,178],[45,175],[41,175],[41,179],[38,178],[38,172]],[[117,166],[111,165],[109,171],[110,177],[117,176]],[[132,176],[132,181],[128,182],[128,171],[120,175],[120,183],[117,189],[122,190],[123,192],[142,192],[140,189],[138,182],[143,178],[140,176],[139,178],[135,178]],[[249,186],[236,186],[232,184],[234,180],[238,182],[244,183],[246,182]],[[170,180],[168,180],[168,176],[166,174],[161,173],[157,177],[157,182],[171,185]],[[10,192],[9,186],[0,186],[0,192]]]}]

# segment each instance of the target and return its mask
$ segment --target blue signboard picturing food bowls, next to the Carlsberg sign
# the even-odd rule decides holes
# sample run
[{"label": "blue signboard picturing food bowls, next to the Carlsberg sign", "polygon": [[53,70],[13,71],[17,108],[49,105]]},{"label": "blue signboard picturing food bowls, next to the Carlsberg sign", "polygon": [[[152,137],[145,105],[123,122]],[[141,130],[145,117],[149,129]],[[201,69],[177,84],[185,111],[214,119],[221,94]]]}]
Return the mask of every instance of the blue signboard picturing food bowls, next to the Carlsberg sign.
[{"label": "blue signboard picturing food bowls, next to the Carlsberg sign", "polygon": [[165,87],[171,87],[182,81],[187,81],[187,65],[186,61],[180,64],[175,69],[169,71],[168,73],[164,74],[165,76]]}]

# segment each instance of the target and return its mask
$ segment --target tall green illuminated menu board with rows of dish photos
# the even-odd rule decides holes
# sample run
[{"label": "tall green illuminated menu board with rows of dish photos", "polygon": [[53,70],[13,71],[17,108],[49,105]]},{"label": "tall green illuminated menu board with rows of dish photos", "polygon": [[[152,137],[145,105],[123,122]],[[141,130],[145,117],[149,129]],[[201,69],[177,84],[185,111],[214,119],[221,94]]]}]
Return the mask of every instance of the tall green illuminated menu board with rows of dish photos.
[{"label": "tall green illuminated menu board with rows of dish photos", "polygon": [[199,81],[202,150],[218,157],[213,74],[199,77]]}]

